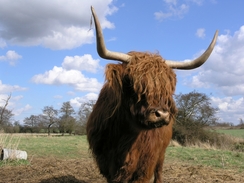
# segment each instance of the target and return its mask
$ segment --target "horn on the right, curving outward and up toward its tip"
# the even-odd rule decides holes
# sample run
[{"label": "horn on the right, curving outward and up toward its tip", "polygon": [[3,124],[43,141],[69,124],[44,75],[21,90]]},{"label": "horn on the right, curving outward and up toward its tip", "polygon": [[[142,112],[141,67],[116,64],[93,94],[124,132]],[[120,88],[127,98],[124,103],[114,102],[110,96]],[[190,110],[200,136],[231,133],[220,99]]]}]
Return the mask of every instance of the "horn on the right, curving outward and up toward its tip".
[{"label": "horn on the right, curving outward and up toward its tip", "polygon": [[165,61],[166,64],[173,69],[182,69],[182,70],[195,69],[195,68],[201,66],[212,53],[216,40],[217,40],[217,37],[218,37],[218,30],[215,32],[213,40],[210,43],[210,45],[208,46],[208,49],[200,57],[196,58],[195,60],[187,61],[187,62],[166,60]]}]

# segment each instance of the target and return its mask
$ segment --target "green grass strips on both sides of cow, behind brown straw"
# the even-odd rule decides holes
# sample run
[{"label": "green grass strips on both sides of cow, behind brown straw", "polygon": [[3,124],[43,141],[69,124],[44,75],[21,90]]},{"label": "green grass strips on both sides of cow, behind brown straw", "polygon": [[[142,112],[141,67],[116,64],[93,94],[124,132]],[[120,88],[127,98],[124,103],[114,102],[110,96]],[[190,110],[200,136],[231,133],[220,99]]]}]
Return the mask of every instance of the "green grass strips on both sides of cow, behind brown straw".
[{"label": "green grass strips on both sides of cow, behind brown straw", "polygon": [[[0,139],[5,139],[5,146],[18,142],[17,149],[26,151],[29,161],[33,157],[58,159],[90,157],[86,136],[2,135]],[[170,146],[166,152],[166,161],[236,169],[244,172],[244,153],[214,148]]]}]

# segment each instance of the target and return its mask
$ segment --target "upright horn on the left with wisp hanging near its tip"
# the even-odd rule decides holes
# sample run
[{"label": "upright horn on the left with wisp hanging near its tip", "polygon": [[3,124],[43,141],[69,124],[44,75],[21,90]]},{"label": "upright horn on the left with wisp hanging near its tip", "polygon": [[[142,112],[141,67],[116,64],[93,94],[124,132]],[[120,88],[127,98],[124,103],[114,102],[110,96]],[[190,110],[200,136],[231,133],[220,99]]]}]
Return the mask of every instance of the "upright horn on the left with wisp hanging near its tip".
[{"label": "upright horn on the left with wisp hanging near its tip", "polygon": [[102,28],[95,13],[94,8],[91,6],[92,15],[94,18],[95,26],[96,26],[96,37],[97,37],[97,52],[100,57],[108,60],[118,60],[122,62],[130,62],[131,56],[125,53],[120,52],[112,52],[107,50],[106,45],[103,39]]}]

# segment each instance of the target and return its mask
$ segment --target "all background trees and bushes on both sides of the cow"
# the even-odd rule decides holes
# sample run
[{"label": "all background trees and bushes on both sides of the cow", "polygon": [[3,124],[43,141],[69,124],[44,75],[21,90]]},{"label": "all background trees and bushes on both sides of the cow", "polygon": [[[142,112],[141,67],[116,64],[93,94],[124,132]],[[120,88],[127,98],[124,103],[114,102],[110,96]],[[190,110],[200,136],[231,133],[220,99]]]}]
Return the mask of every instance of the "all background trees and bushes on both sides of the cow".
[{"label": "all background trees and bushes on both sides of the cow", "polygon": [[[173,138],[185,143],[188,140],[203,138],[204,128],[216,125],[229,125],[232,123],[220,123],[216,117],[217,108],[211,105],[209,96],[204,93],[192,91],[187,94],[175,95],[175,102],[178,108],[176,120],[173,128]],[[90,100],[81,104],[79,110],[75,112],[70,102],[64,102],[60,109],[53,106],[44,106],[42,114],[30,115],[26,117],[23,124],[13,120],[13,113],[7,109],[8,101],[4,99],[5,105],[0,106],[0,132],[6,133],[69,133],[86,134],[86,122],[95,100]],[[244,127],[243,120],[240,119],[240,127]]]}]

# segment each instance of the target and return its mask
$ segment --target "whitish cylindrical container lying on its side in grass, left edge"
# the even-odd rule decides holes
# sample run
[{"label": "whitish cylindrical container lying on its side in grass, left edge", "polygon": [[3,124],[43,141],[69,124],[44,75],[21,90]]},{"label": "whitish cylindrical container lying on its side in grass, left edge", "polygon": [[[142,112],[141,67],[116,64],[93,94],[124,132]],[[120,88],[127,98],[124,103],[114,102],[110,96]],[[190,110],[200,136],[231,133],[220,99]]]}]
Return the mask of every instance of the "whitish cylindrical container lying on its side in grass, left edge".
[{"label": "whitish cylindrical container lying on its side in grass, left edge", "polygon": [[19,151],[14,149],[2,149],[1,160],[5,159],[27,159],[26,151]]}]

